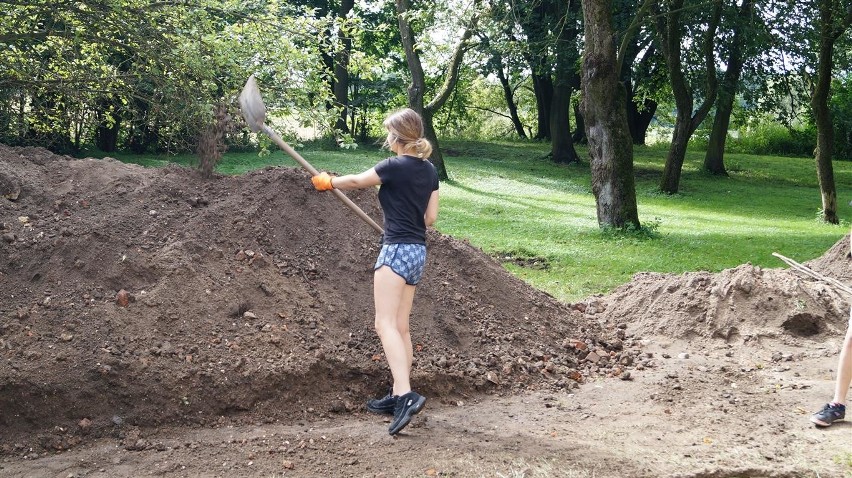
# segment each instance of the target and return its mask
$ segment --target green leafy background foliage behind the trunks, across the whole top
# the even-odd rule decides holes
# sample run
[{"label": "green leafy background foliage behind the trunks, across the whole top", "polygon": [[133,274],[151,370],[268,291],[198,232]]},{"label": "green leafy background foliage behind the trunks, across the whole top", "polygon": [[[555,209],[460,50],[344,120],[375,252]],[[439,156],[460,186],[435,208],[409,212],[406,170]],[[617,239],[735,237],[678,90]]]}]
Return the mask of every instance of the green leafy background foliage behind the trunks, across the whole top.
[{"label": "green leafy background foliage behind the trunks, across the whole top", "polygon": [[[40,145],[80,154],[93,146],[154,153],[197,150],[213,120],[214,105],[225,105],[233,120],[224,142],[232,151],[260,145],[262,136],[239,130],[235,99],[249,74],[258,78],[269,122],[294,139],[311,135],[335,138],[333,147],[370,145],[382,136],[389,110],[407,104],[410,73],[402,52],[394,2],[356,2],[345,18],[328,1],[83,0],[3,2],[0,17],[0,142]],[[516,138],[504,92],[496,76],[508,79],[513,101],[527,133],[536,126],[532,69],[552,72],[555,8],[558,2],[478,4],[481,18],[462,66],[458,87],[436,114],[441,137]],[[704,4],[687,2],[683,27],[697,35]],[[413,2],[409,20],[418,34],[427,90],[443,81],[453,32],[468,18],[466,2]],[[635,2],[616,2],[619,31],[626,29]],[[760,25],[778,24],[750,36],[752,57],[737,103],[729,151],[811,156],[807,96],[817,49],[815,2],[761,5]],[[783,16],[784,22],[777,22]],[[650,22],[652,19],[648,19]],[[729,40],[734,22],[726,16],[720,38]],[[700,28],[699,28],[700,29]],[[654,28],[645,24],[636,45],[651,43]],[[526,33],[525,33],[526,32]],[[352,41],[347,114],[349,134],[332,129],[338,114],[330,91],[334,55],[343,48],[342,33]],[[775,35],[771,40],[766,35]],[[696,37],[697,38],[697,37]],[[447,41],[450,39],[450,41]],[[724,48],[717,52],[726,56]],[[835,157],[852,159],[852,83],[849,35],[838,39],[831,108],[835,120]],[[698,42],[691,42],[696,47]],[[572,48],[575,46],[572,44]],[[580,51],[581,45],[577,45]],[[671,121],[674,109],[659,48],[636,56],[630,75],[638,98],[661,102],[657,123]],[[543,64],[531,65],[530,55]],[[781,57],[780,55],[787,55]],[[643,53],[644,55],[644,53]],[[692,54],[687,63],[695,63]],[[628,62],[631,60],[628,60]],[[700,65],[700,62],[696,63]],[[783,70],[779,70],[784,66]],[[687,72],[690,77],[697,74]],[[699,75],[700,76],[700,75]],[[698,78],[699,76],[696,76]],[[430,94],[427,92],[426,97]],[[666,101],[669,107],[662,106]],[[768,112],[768,113],[767,113]],[[771,116],[764,116],[768,114]],[[712,118],[712,117],[711,117]],[[785,126],[778,126],[778,124]],[[234,128],[236,127],[236,128]],[[693,139],[706,143],[709,123]],[[272,148],[274,149],[274,147]],[[450,171],[452,173],[452,171]]]}]

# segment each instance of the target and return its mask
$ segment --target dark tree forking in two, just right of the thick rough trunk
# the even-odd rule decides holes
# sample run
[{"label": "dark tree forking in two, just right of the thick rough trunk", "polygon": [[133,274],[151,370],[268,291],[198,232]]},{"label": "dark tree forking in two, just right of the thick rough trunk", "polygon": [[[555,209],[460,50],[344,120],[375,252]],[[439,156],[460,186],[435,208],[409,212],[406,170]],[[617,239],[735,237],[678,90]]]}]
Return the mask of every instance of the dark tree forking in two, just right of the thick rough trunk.
[{"label": "dark tree forking in two, just right of the thick rough trunk", "polygon": [[[686,67],[683,61],[683,45],[684,31],[686,24],[683,22],[684,0],[669,0],[663,2],[658,1],[657,19],[657,34],[660,38],[663,56],[666,59],[666,66],[669,71],[669,80],[671,81],[672,92],[674,93],[675,104],[677,106],[677,117],[675,119],[674,132],[672,134],[672,144],[669,149],[669,154],[666,157],[666,165],[663,169],[663,177],[660,181],[660,190],[674,194],[678,192],[680,186],[680,175],[683,168],[683,160],[686,157],[686,146],[689,143],[689,138],[698,128],[698,125],[704,121],[713,102],[716,100],[716,92],[718,87],[718,79],[716,78],[716,58],[714,49],[714,39],[716,37],[716,28],[719,25],[719,19],[722,14],[722,0],[713,0],[712,8],[707,18],[706,27],[698,47],[700,47],[700,56],[704,60],[704,76],[705,88],[701,92],[703,95],[702,102],[698,108],[693,111],[695,98],[693,96],[694,86],[690,85],[690,80],[686,74]],[[665,6],[665,9],[661,9]],[[698,25],[692,25],[697,27]],[[695,36],[698,38],[698,35]],[[692,83],[696,83],[693,81]]]}]

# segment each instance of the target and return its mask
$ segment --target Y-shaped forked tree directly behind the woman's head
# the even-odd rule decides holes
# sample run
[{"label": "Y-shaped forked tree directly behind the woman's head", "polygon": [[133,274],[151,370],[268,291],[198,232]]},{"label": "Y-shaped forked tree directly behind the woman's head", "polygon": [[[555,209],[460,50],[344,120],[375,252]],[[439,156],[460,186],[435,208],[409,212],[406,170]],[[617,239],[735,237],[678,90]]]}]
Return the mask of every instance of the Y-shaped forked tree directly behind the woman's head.
[{"label": "Y-shaped forked tree directly behind the woman's head", "polygon": [[435,93],[435,97],[427,104],[424,96],[426,94],[426,74],[423,72],[423,65],[420,62],[420,53],[416,47],[414,31],[409,22],[409,13],[411,12],[411,4],[409,0],[395,0],[396,11],[399,21],[399,33],[402,38],[402,45],[405,48],[405,59],[408,68],[411,71],[411,84],[408,87],[408,106],[418,112],[423,118],[423,127],[425,129],[426,139],[432,143],[432,163],[438,170],[438,178],[446,180],[449,178],[447,169],[444,165],[444,156],[441,154],[441,148],[438,144],[438,135],[435,133],[433,117],[435,113],[447,102],[450,94],[453,92],[456,83],[459,79],[459,68],[461,67],[462,58],[464,57],[467,48],[467,42],[473,35],[473,28],[476,25],[477,14],[476,6],[479,0],[474,0],[474,15],[471,17],[464,32],[461,35],[458,43],[453,49],[453,55],[449,65],[447,65],[444,74],[444,82]]}]

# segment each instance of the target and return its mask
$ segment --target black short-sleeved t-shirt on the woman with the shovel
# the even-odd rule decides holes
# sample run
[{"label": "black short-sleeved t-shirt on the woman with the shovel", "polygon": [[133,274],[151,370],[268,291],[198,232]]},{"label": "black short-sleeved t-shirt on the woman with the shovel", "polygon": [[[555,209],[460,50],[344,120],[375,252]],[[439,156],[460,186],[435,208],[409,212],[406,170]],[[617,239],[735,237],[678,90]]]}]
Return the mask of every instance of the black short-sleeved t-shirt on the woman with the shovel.
[{"label": "black short-sleeved t-shirt on the woman with the shovel", "polygon": [[428,160],[396,156],[375,166],[382,185],[379,203],[385,213],[384,244],[426,244],[426,206],[438,189],[438,172]]}]

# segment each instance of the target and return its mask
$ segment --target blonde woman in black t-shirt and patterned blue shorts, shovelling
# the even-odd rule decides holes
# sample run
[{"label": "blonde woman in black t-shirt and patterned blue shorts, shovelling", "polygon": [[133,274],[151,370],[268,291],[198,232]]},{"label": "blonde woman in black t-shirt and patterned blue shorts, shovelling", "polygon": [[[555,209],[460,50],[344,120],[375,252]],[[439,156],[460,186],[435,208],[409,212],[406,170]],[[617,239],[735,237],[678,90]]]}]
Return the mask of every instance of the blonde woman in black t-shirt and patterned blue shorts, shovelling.
[{"label": "blonde woman in black t-shirt and patterned blue shorts, shovelling", "polygon": [[397,156],[360,173],[313,178],[319,191],[379,187],[384,212],[382,249],[374,266],[373,299],[376,332],[393,375],[387,396],[370,400],[367,409],[393,413],[388,432],[396,435],[426,403],[411,389],[414,352],[408,329],[414,290],[426,264],[426,227],[438,218],[438,173],[428,161],[432,145],[423,137],[423,121],[414,110],[403,109],[384,121],[385,146]]}]

